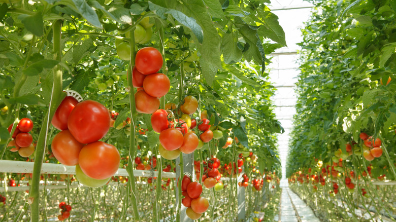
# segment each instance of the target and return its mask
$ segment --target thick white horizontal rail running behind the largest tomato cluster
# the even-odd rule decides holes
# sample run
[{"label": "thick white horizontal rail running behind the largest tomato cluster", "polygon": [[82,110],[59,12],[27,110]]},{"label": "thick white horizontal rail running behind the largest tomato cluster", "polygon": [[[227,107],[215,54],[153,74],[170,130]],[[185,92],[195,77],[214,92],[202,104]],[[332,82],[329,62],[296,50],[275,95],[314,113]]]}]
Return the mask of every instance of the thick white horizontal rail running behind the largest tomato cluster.
[{"label": "thick white horizontal rail running behind the largest tomato cluster", "polygon": [[[3,173],[33,173],[34,162],[0,160],[0,172]],[[75,166],[64,166],[62,164],[43,163],[41,174],[76,174]],[[135,177],[157,177],[158,171],[134,170]],[[128,176],[125,169],[118,169],[114,176]],[[176,173],[162,172],[163,178],[176,178]]]}]

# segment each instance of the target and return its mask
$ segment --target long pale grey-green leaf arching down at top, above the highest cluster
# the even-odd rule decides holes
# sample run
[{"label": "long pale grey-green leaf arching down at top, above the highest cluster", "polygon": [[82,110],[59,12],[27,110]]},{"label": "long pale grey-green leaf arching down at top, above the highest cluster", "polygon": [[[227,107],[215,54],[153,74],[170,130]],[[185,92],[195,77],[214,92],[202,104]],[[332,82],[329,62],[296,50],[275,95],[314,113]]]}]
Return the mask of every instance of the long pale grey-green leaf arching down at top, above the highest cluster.
[{"label": "long pale grey-green leaf arching down at top, above the highest cluster", "polygon": [[149,8],[162,19],[166,19],[164,14],[171,14],[178,22],[190,28],[200,43],[204,41],[204,32],[194,18],[190,18],[178,10],[166,9],[151,2],[149,2]]}]

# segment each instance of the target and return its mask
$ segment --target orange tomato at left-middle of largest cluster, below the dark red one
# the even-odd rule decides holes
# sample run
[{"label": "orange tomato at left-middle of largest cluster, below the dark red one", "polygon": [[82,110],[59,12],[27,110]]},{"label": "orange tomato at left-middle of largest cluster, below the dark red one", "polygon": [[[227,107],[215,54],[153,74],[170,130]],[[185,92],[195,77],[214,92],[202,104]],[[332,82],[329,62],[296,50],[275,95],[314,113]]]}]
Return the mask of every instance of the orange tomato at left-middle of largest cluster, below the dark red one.
[{"label": "orange tomato at left-middle of largest cluster, below the dark red one", "polygon": [[52,140],[51,149],[55,158],[63,165],[75,166],[84,144],[77,141],[69,130],[56,134]]}]

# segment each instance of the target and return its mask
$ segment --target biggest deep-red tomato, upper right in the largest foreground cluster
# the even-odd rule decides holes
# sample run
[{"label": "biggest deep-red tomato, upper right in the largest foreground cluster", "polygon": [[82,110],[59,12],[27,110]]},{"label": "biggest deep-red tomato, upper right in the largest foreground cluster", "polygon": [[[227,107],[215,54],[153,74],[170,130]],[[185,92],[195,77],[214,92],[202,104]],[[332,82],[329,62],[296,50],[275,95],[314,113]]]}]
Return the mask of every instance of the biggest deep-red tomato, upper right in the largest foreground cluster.
[{"label": "biggest deep-red tomato, upper right in the largest foreground cluster", "polygon": [[[85,100],[78,103],[70,113],[68,127],[77,141],[91,143],[106,135],[110,129],[109,123],[110,114],[104,105],[96,101]],[[83,169],[82,166],[81,168]]]}]

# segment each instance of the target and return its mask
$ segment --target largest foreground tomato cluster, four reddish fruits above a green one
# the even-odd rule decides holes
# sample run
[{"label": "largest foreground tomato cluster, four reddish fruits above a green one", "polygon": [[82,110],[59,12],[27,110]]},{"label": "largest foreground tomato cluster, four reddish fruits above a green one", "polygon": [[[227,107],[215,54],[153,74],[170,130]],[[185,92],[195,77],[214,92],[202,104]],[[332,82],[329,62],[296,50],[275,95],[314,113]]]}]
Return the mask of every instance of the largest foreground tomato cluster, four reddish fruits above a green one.
[{"label": "largest foreground tomato cluster, four reddish fruits above a green one", "polygon": [[108,109],[99,102],[63,99],[52,119],[61,130],[52,140],[54,157],[67,166],[76,166],[77,179],[88,187],[101,187],[117,172],[120,154],[114,145],[98,141],[110,128]]}]

